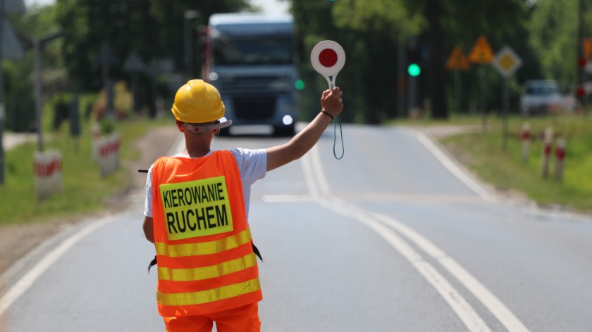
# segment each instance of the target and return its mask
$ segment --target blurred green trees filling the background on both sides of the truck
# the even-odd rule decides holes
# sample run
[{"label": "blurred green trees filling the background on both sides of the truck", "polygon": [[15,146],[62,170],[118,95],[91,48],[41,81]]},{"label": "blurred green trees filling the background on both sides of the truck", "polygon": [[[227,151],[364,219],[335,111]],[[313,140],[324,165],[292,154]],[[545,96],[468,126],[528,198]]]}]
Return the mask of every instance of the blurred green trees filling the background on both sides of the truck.
[{"label": "blurred green trees filling the background on both sides of the truck", "polygon": [[[405,91],[410,60],[421,68],[416,98],[425,116],[445,119],[456,112],[483,111],[479,65],[460,74],[460,108],[455,106],[452,72],[445,70],[452,49],[460,46],[468,54],[479,36],[488,39],[494,53],[508,45],[522,58],[522,68],[510,79],[510,112],[519,112],[526,79],[557,79],[565,94],[573,94],[577,87],[575,0],[292,0],[291,4],[305,84],[300,92],[303,120],[316,113],[320,91],[326,89],[325,80],[309,64],[312,47],[323,39],[338,41],[347,53],[337,82],[347,93],[348,112],[343,117],[349,122],[380,123],[409,116]],[[136,94],[120,98],[135,104],[127,107],[128,115],[155,116],[156,101],[163,100],[167,108],[187,70],[190,77],[200,76],[199,30],[209,15],[245,10],[252,10],[245,0],[56,0],[54,6],[29,8],[25,15],[9,20],[26,37],[23,40],[63,32],[44,50],[44,103],[63,101],[63,95],[93,94],[95,100],[80,105],[92,113],[101,105],[99,93],[107,75],[113,82],[125,82],[125,87],[118,85],[119,91]],[[591,20],[586,13],[586,22]],[[191,68],[185,68],[184,62],[185,24],[191,31]],[[105,48],[109,49],[106,68]],[[30,53],[3,65],[13,124],[23,122],[32,110]],[[125,67],[132,53],[142,70]],[[401,54],[402,64],[397,62]],[[486,112],[496,113],[502,103],[502,78],[491,65],[482,68]]]}]

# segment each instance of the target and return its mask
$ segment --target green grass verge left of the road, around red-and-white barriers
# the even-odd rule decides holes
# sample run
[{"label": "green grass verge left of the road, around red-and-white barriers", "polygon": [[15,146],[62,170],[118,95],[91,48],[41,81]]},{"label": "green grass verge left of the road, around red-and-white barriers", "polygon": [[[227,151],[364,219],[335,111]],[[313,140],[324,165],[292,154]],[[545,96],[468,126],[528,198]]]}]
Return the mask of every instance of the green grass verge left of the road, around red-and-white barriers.
[{"label": "green grass verge left of the road, around red-and-white barriers", "polygon": [[[121,135],[121,161],[138,158],[135,141],[150,128],[170,125],[170,121],[119,122],[116,130]],[[78,139],[70,136],[67,127],[46,135],[44,150],[58,150],[62,155],[63,190],[43,200],[38,200],[35,193],[33,154],[37,143],[6,151],[5,181],[0,185],[0,225],[46,222],[96,212],[106,207],[106,198],[130,187],[130,170],[123,163],[116,172],[101,177],[99,165],[92,159],[92,136],[87,127]]]}]

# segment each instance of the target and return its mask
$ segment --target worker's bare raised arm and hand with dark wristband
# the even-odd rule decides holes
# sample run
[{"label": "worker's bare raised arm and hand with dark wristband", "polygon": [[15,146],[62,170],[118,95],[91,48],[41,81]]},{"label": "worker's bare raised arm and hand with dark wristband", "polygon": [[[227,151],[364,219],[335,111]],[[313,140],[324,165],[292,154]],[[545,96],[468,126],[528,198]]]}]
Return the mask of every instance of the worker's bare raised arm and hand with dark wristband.
[{"label": "worker's bare raised arm and hand with dark wristband", "polygon": [[319,141],[331,121],[343,110],[342,95],[343,92],[338,87],[324,91],[321,96],[322,110],[312,122],[302,132],[292,137],[288,143],[266,150],[268,171],[275,170],[292,160],[297,160]]}]

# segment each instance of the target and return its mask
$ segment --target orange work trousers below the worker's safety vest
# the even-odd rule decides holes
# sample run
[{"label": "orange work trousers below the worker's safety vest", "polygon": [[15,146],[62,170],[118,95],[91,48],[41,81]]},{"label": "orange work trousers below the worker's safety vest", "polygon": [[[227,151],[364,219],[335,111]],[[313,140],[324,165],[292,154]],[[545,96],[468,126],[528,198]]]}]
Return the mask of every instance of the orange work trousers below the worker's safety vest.
[{"label": "orange work trousers below the worker's safety vest", "polygon": [[211,332],[214,322],[218,332],[259,332],[259,305],[255,302],[207,315],[164,317],[166,332]]}]

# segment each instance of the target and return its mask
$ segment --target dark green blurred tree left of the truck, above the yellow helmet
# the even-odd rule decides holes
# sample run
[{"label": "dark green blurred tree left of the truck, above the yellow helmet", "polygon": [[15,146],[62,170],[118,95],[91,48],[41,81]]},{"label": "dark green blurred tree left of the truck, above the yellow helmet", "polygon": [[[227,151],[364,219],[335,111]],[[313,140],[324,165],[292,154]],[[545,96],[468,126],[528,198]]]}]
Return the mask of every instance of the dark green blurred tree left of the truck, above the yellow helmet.
[{"label": "dark green blurred tree left of the truck, above the yellow helmet", "polygon": [[[180,71],[185,11],[199,11],[200,15],[192,20],[195,30],[212,13],[244,8],[245,0],[57,0],[57,21],[64,33],[62,52],[71,88],[101,89],[99,54],[105,41],[118,60],[109,70],[113,79],[128,78],[122,65],[132,50],[146,63],[171,59],[173,69]],[[149,79],[142,81],[141,88],[149,91]]]}]

